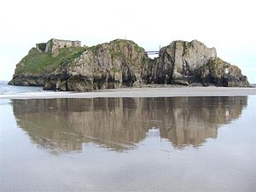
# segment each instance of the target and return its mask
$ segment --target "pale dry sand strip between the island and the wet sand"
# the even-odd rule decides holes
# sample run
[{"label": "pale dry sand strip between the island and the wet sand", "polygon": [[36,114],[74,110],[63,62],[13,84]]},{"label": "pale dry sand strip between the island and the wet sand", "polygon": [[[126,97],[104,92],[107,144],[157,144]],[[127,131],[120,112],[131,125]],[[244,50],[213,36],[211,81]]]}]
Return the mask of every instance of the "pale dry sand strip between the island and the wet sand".
[{"label": "pale dry sand strip between the island and the wet sand", "polygon": [[240,87],[172,87],[172,88],[120,88],[88,92],[32,92],[0,95],[0,99],[55,99],[96,97],[172,97],[172,96],[250,96],[256,88]]}]

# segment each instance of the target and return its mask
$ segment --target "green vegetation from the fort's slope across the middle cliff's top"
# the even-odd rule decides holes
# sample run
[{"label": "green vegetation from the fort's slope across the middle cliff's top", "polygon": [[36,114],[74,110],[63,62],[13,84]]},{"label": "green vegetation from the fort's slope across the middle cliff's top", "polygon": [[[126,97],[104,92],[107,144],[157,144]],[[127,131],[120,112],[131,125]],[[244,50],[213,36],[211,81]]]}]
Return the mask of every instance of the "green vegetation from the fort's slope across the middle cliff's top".
[{"label": "green vegetation from the fort's slope across the middle cliff's top", "polygon": [[[53,44],[53,42],[50,42]],[[38,44],[38,49],[45,50],[46,44]],[[144,49],[139,47],[137,44],[130,40],[116,39],[110,43],[97,44],[92,47],[72,47],[72,48],[62,48],[59,49],[57,55],[52,55],[51,53],[41,52],[36,48],[32,48],[28,55],[26,55],[17,65],[15,73],[16,74],[47,74],[53,73],[58,67],[64,67],[75,58],[78,58],[85,50],[91,51],[93,55],[99,53],[105,53],[112,56],[112,58],[122,59],[127,65],[134,65],[135,62],[132,61],[131,53],[129,55],[125,54],[125,49],[128,51],[135,51],[139,55],[145,55]],[[127,51],[127,50],[126,50]],[[148,59],[145,57],[142,60],[142,64],[148,63]],[[115,72],[116,69],[113,69]]]}]

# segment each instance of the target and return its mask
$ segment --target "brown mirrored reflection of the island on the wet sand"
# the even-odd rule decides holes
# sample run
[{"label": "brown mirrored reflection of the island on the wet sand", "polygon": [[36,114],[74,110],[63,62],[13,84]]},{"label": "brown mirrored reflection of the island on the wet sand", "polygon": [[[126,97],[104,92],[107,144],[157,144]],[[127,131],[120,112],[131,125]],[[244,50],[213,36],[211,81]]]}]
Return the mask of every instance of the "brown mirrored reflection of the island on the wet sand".
[{"label": "brown mirrored reflection of the island on the wet sand", "polygon": [[123,151],[156,127],[173,146],[200,146],[218,127],[237,119],[247,96],[13,100],[17,124],[52,153],[83,143]]}]

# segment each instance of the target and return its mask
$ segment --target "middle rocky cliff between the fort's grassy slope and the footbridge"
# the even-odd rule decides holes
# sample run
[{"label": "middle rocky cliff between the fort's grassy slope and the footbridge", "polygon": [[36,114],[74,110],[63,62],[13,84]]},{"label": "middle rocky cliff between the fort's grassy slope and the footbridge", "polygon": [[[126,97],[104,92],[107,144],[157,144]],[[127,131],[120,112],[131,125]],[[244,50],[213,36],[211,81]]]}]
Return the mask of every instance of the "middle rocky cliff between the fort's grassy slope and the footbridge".
[{"label": "middle rocky cliff between the fort's grassy slope and the footbridge", "polygon": [[88,48],[67,66],[58,67],[44,84],[45,90],[97,90],[143,82],[148,55],[128,40],[114,40]]}]

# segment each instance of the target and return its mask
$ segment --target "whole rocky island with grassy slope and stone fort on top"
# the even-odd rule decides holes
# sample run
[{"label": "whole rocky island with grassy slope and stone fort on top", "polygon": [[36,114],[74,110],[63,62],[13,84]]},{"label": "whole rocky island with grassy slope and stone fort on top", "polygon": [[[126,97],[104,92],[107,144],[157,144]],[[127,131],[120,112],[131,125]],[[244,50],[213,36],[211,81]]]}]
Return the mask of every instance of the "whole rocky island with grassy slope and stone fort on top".
[{"label": "whole rocky island with grassy slope and stone fort on top", "polygon": [[80,41],[50,39],[36,44],[16,66],[9,84],[44,90],[86,91],[143,84],[247,87],[239,67],[218,58],[197,40],[173,41],[151,59],[133,41],[116,39],[81,47]]}]

